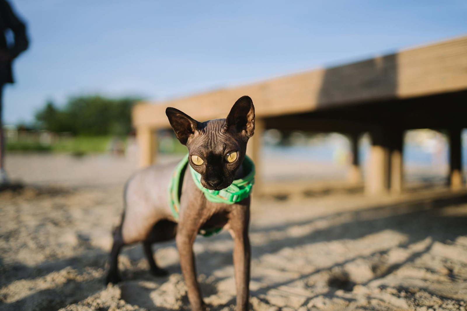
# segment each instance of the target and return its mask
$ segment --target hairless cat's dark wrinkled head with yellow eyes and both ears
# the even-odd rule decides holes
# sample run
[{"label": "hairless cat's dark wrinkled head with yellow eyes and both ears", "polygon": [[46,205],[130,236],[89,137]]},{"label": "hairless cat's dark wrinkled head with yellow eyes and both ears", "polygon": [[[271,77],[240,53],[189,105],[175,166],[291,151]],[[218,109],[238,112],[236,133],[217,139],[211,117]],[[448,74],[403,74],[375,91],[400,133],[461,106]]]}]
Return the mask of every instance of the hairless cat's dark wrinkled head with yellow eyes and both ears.
[{"label": "hairless cat's dark wrinkled head with yellow eyes and both ears", "polygon": [[255,106],[249,96],[233,105],[226,119],[198,122],[178,109],[165,110],[177,139],[188,148],[191,167],[201,184],[221,190],[232,184],[255,131]]}]

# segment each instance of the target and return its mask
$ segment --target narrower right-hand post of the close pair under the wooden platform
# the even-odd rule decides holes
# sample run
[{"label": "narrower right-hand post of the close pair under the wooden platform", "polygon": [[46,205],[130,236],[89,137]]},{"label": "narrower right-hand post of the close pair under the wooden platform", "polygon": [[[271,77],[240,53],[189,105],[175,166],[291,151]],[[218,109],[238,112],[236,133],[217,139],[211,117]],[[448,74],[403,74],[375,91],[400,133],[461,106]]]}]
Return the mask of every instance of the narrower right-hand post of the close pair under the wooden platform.
[{"label": "narrower right-hand post of the close pair under the wooden platform", "polygon": [[388,134],[391,135],[389,189],[392,194],[398,194],[403,188],[403,131],[390,130]]}]

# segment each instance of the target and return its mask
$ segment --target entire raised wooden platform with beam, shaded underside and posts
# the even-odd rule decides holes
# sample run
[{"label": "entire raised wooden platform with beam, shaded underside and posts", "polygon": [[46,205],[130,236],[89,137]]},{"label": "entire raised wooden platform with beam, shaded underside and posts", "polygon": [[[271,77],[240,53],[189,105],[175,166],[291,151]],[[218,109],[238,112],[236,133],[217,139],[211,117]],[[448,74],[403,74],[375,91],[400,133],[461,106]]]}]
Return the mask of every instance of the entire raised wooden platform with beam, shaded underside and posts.
[{"label": "entire raised wooden platform with beam, shaded underside and posts", "polygon": [[[399,193],[403,189],[403,133],[431,128],[448,133],[451,188],[464,187],[461,130],[467,127],[467,36],[352,64],[140,103],[132,115],[140,166],[155,161],[156,130],[170,127],[166,107],[176,107],[200,121],[225,118],[243,95],[255,104],[255,136],[248,153],[257,164],[261,163],[260,140],[265,129],[339,132],[351,138],[351,178],[356,182],[361,178],[358,138],[369,133],[372,145],[365,191]],[[261,179],[257,184],[261,189]]]}]

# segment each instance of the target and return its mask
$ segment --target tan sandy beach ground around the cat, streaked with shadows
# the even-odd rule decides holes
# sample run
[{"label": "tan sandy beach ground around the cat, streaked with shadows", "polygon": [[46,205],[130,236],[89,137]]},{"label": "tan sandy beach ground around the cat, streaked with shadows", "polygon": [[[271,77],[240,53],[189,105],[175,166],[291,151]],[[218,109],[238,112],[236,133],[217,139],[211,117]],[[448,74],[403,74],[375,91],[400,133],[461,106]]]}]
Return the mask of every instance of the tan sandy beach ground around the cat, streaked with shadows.
[{"label": "tan sandy beach ground around the cat, streaked with shadows", "polygon": [[[134,162],[10,155],[7,163],[26,186],[0,192],[0,310],[190,310],[174,242],[154,246],[169,276],[151,276],[134,245],[120,255],[124,281],[102,285]],[[466,224],[467,191],[443,187],[254,197],[251,310],[467,310]],[[232,247],[226,232],[194,246],[212,311],[234,310]]]}]

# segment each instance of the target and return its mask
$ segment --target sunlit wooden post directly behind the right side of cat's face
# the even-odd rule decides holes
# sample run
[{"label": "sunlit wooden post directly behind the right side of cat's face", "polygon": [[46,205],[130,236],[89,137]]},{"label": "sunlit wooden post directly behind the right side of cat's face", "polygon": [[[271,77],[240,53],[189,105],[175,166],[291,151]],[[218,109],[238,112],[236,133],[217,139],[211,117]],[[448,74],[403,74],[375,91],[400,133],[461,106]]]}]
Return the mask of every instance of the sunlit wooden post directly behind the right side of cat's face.
[{"label": "sunlit wooden post directly behind the right side of cat's face", "polygon": [[255,120],[255,134],[248,141],[247,155],[253,160],[256,168],[255,185],[253,186],[255,194],[262,194],[262,134],[264,132],[264,120]]}]

